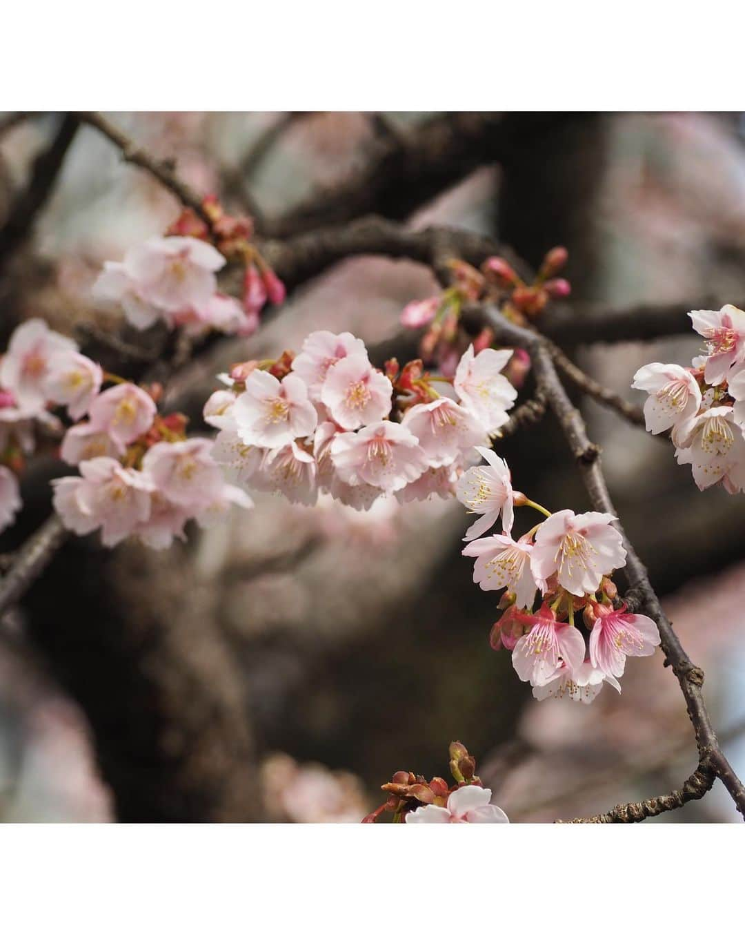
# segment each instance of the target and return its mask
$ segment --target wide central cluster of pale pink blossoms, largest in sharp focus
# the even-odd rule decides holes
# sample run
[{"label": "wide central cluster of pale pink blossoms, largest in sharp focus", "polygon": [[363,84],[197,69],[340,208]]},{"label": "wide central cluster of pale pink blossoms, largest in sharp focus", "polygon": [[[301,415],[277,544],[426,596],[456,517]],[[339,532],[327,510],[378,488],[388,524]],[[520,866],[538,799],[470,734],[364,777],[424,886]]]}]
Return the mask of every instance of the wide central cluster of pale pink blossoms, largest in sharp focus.
[{"label": "wide central cluster of pale pink blossoms, largest in sharp focus", "polygon": [[474,447],[508,420],[510,356],[469,346],[451,383],[419,360],[380,371],[358,337],[318,331],[297,356],[239,363],[222,377],[226,388],[204,409],[219,430],[213,455],[241,487],[306,505],[319,492],[358,510],[385,495],[452,497]]}]

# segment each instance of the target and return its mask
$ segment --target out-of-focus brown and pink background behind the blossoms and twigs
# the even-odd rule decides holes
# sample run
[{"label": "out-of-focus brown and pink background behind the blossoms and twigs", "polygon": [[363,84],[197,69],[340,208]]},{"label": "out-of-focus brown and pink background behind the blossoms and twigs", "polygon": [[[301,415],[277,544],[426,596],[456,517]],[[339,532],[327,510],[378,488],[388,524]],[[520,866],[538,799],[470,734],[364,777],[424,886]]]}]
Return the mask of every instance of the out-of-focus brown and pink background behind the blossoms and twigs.
[{"label": "out-of-focus brown and pink background behind the blossoms and twigs", "polygon": [[[679,304],[684,316],[745,299],[738,114],[108,116],[267,236],[377,212],[493,234],[534,264],[564,245],[572,305],[599,316],[638,302]],[[24,317],[72,333],[98,314],[90,286],[102,262],[178,213],[93,130],[61,140],[63,130],[60,115],[34,115],[0,134],[0,243],[34,159],[55,144],[63,157],[34,225],[0,251],[2,346]],[[400,336],[404,304],[436,290],[408,261],[346,260],[251,340],[216,344],[169,387],[169,405],[207,431],[201,405],[227,363],[297,350],[318,329],[351,330],[374,348]],[[566,349],[641,404],[629,388],[636,369],[687,363],[698,336]],[[669,443],[581,404],[618,513],[706,671],[715,727],[742,774],[745,500],[698,492]],[[531,498],[586,509],[549,417],[497,451]],[[48,514],[58,473],[53,460],[29,469],[27,507],[2,553]],[[5,616],[0,819],[359,821],[396,770],[447,775],[453,739],[513,821],[593,815],[679,786],[695,768],[659,652],[630,661],[620,696],[603,690],[591,706],[531,698],[509,655],[489,648],[496,598],[460,555],[457,502],[384,500],[357,513],[254,498],[253,511],[162,554],[75,540]],[[660,820],[737,813],[717,784]]]}]

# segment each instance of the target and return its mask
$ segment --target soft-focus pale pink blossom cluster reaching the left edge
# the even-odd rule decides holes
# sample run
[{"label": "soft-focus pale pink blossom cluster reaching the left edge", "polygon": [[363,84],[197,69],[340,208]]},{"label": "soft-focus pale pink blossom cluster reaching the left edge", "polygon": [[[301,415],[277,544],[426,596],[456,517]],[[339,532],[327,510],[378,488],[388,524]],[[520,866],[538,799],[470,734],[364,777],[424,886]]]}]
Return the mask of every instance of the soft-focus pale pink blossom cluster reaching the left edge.
[{"label": "soft-focus pale pink blossom cluster reaching the left edge", "polygon": [[207,524],[231,503],[251,505],[245,492],[225,484],[211,440],[187,439],[182,415],[157,414],[156,389],[103,372],[44,321],[16,328],[0,386],[0,528],[20,508],[16,474],[22,455],[34,449],[34,421],[61,432],[53,413],[61,408],[73,423],[60,456],[80,474],[53,481],[54,507],[75,533],[101,528],[106,546],[134,535],[159,548],[183,537],[190,518]]}]

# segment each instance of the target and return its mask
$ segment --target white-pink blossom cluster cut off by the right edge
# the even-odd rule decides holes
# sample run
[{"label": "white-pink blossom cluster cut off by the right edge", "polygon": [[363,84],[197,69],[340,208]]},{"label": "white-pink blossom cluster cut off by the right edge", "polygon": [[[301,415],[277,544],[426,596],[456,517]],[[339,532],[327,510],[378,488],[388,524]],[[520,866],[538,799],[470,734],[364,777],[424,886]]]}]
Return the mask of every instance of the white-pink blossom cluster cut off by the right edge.
[{"label": "white-pink blossom cluster cut off by the right edge", "polygon": [[671,432],[675,459],[691,466],[698,488],[745,491],[745,311],[692,310],[705,352],[689,367],[649,363],[631,383],[649,395],[646,429]]}]

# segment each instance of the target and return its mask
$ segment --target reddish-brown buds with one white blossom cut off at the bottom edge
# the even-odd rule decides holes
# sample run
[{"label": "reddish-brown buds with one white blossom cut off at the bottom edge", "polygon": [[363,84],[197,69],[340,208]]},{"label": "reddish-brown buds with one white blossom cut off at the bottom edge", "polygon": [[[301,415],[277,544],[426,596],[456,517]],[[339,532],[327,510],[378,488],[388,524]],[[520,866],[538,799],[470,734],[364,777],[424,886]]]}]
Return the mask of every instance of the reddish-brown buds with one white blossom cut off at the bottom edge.
[{"label": "reddish-brown buds with one white blossom cut off at the bottom edge", "polygon": [[395,823],[508,822],[492,804],[492,790],[484,788],[476,775],[476,759],[467,748],[454,741],[449,750],[453,785],[441,776],[427,780],[411,771],[397,771],[381,787],[388,793],[386,802],[365,816],[363,823],[377,822],[384,813],[392,813]]}]

